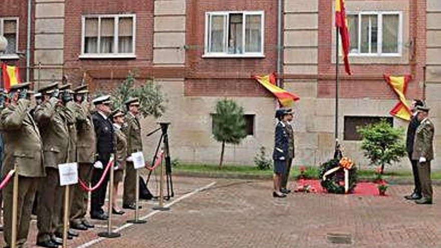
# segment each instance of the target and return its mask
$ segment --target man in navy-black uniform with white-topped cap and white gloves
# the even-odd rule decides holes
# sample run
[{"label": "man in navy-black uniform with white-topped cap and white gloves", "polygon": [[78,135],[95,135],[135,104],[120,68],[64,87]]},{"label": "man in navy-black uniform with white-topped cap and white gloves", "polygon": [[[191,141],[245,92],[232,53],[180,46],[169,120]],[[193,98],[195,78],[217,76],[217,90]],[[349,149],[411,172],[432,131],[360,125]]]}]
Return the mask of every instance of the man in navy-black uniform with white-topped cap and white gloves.
[{"label": "man in navy-black uniform with white-topped cap and white gloves", "polygon": [[[94,163],[94,169],[92,171],[92,185],[96,185],[101,176],[104,173],[104,167],[110,160],[110,156],[115,152],[113,145],[113,124],[109,120],[110,110],[110,96],[101,96],[95,98],[93,104],[96,107],[97,112],[92,115],[93,125],[96,134],[96,149],[98,158]],[[106,188],[109,180],[109,174],[105,176],[105,179],[97,190],[92,192],[90,217],[93,219],[105,220],[108,218],[107,214],[103,210],[104,200],[106,197]]]}]

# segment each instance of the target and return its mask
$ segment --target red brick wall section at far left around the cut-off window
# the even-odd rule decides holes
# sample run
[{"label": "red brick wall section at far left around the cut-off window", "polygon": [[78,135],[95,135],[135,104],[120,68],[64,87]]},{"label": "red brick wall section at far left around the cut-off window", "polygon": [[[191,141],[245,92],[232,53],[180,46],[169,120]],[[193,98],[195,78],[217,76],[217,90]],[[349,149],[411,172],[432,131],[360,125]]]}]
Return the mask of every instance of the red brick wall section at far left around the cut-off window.
[{"label": "red brick wall section at far left around the cut-off window", "polygon": [[[0,18],[3,17],[18,17],[19,18],[19,51],[26,54],[27,32],[28,32],[28,1],[16,1],[16,0],[2,0],[0,8]],[[34,1],[33,1],[34,2]],[[7,7],[7,8],[6,8]],[[34,54],[34,11],[35,6],[32,6],[32,25],[31,25],[31,66],[33,62]],[[20,67],[20,77],[22,81],[26,80],[26,57],[21,57],[20,60],[6,60],[4,61],[9,65],[18,65]],[[31,71],[32,72],[32,71]],[[3,87],[3,77],[0,76]],[[32,74],[31,74],[32,78]]]}]

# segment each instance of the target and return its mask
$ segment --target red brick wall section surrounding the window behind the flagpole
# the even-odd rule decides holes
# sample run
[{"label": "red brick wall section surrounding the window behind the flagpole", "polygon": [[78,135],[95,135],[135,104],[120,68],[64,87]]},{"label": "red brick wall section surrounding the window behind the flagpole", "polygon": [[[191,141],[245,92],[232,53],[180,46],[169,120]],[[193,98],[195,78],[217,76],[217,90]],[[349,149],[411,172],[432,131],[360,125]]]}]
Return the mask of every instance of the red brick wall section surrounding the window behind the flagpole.
[{"label": "red brick wall section surrounding the window behind the flagpole", "polygon": [[[364,1],[364,0],[353,0]],[[335,64],[331,63],[331,44],[335,29],[332,25],[332,1],[328,4],[319,5],[319,75],[335,75]],[[340,81],[339,95],[342,98],[374,98],[374,99],[395,99],[395,94],[382,80],[383,73],[393,75],[411,74],[413,79],[409,82],[407,98],[421,98],[422,91],[418,82],[423,78],[423,66],[425,65],[425,0],[409,0],[409,37],[403,37],[403,42],[415,38],[415,54],[409,56],[407,65],[387,64],[352,64],[353,77],[364,79],[350,80],[351,77],[344,77],[347,80]],[[403,24],[405,25],[405,24]],[[412,53],[412,49],[409,50]],[[340,66],[340,75],[345,75],[344,66]],[[335,80],[318,80],[317,95],[320,98],[335,97]]]}]

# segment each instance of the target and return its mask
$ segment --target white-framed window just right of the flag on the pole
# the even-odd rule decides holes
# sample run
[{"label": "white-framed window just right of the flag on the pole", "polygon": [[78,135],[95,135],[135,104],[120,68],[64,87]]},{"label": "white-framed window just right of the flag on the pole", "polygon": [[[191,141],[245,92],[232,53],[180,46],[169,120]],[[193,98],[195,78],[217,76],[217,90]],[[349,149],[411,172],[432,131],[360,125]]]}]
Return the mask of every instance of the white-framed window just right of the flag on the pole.
[{"label": "white-framed window just right of the flag on the pole", "polygon": [[401,56],[401,12],[348,12],[350,56]]}]

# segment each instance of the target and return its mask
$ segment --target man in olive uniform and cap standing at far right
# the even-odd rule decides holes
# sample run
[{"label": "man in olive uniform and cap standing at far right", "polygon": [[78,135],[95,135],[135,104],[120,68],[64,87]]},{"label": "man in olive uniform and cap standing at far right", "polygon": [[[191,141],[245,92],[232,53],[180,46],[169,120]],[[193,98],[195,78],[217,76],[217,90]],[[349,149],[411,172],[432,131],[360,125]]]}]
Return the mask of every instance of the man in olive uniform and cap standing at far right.
[{"label": "man in olive uniform and cap standing at far right", "polygon": [[432,181],[430,179],[430,161],[433,159],[433,123],[428,119],[429,108],[417,106],[420,124],[415,131],[412,158],[418,160],[418,177],[421,185],[421,199],[417,204],[432,204]]}]

